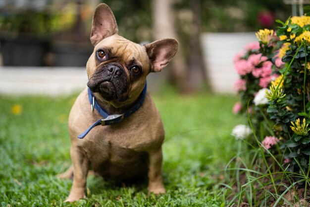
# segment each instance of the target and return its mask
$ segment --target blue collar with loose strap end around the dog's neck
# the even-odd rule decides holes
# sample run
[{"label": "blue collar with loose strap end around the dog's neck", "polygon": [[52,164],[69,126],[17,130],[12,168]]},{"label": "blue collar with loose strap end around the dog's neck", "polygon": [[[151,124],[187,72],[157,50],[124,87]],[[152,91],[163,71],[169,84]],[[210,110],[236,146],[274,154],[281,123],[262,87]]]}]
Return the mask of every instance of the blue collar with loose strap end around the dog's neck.
[{"label": "blue collar with loose strap end around the dog's neck", "polygon": [[140,106],[143,104],[144,99],[147,94],[147,83],[145,84],[143,91],[140,94],[140,97],[136,101],[136,103],[129,109],[127,109],[123,114],[109,114],[107,113],[96,101],[95,96],[93,92],[88,88],[88,99],[91,103],[92,111],[94,111],[94,108],[99,112],[101,116],[103,116],[104,119],[100,119],[97,122],[95,122],[92,126],[90,126],[87,130],[85,130],[81,135],[78,136],[78,138],[85,138],[85,136],[96,126],[99,125],[111,125],[115,123],[121,122],[125,117],[129,117],[133,113],[135,113]]}]

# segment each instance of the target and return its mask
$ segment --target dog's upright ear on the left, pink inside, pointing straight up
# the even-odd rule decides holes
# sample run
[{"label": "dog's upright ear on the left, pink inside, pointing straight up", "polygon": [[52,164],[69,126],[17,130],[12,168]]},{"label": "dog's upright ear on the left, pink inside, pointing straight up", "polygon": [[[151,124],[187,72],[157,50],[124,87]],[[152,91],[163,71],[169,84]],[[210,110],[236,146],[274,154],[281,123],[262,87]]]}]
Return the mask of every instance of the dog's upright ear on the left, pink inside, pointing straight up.
[{"label": "dog's upright ear on the left, pink inside, pointing straight up", "polygon": [[104,38],[114,34],[118,34],[114,14],[108,5],[101,3],[94,13],[91,42],[95,46]]}]

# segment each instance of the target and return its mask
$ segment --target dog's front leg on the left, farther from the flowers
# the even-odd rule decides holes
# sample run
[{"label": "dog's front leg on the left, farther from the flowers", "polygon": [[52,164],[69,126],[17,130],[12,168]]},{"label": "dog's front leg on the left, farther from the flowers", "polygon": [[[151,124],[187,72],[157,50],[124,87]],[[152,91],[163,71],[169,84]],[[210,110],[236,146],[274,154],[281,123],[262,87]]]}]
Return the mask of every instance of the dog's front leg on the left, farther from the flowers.
[{"label": "dog's front leg on the left, farther from the flowers", "polygon": [[85,153],[77,147],[71,146],[70,155],[73,163],[73,183],[65,202],[73,202],[85,198],[86,179],[89,168],[89,160]]}]

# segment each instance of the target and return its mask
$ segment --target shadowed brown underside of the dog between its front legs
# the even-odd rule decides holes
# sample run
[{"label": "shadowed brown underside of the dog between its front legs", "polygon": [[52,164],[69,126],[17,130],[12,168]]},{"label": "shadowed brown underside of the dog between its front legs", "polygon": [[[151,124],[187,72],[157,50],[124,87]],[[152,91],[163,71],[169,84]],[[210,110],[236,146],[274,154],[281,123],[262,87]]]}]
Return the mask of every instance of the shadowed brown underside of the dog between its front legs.
[{"label": "shadowed brown underside of the dog between its front legs", "polygon": [[105,133],[96,133],[96,137],[82,145],[95,172],[114,179],[127,179],[146,172],[148,154],[133,144],[137,143],[137,135],[102,131]]}]

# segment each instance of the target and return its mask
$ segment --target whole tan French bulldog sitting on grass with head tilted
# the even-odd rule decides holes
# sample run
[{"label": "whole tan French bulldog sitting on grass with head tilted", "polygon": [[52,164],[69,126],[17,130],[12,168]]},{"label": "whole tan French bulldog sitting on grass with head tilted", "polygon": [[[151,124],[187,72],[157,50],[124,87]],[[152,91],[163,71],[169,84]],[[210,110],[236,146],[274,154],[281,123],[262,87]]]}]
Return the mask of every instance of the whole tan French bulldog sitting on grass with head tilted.
[{"label": "whole tan French bulldog sitting on grass with head tilted", "polygon": [[146,77],[161,71],[178,50],[175,39],[141,46],[118,35],[111,9],[95,10],[90,40],[94,52],[86,68],[87,87],[69,114],[73,176],[66,201],[85,198],[90,169],[120,181],[148,177],[149,193],[165,193],[162,182],[164,128],[147,91]]}]

